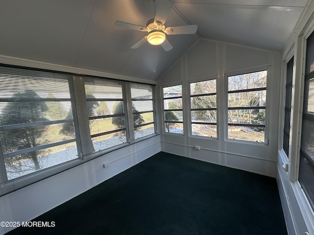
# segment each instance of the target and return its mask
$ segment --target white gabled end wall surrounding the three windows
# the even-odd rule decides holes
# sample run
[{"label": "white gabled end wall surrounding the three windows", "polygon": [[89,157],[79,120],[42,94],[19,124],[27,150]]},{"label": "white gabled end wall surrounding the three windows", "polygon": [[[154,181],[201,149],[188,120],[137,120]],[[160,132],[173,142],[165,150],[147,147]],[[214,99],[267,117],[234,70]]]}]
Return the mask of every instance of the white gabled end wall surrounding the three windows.
[{"label": "white gabled end wall surrounding the three windows", "polygon": [[[227,140],[226,76],[233,72],[246,72],[269,68],[267,74],[266,137],[269,144]],[[161,133],[162,151],[226,165],[271,177],[276,177],[278,140],[279,93],[281,54],[258,48],[239,46],[201,39],[158,81],[162,86],[183,84],[184,136]],[[217,78],[218,140],[191,136],[188,117],[188,86],[190,81]],[[162,99],[162,94],[159,94]],[[163,127],[162,121],[160,126]],[[193,146],[199,145],[201,150]]]}]

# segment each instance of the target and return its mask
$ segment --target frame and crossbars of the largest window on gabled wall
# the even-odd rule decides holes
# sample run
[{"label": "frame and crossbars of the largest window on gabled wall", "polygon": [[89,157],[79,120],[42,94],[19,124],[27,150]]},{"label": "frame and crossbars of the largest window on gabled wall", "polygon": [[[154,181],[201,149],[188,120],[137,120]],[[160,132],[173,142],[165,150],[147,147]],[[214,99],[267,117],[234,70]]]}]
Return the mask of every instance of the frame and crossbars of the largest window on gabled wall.
[{"label": "frame and crossbars of the largest window on gabled wall", "polygon": [[[235,90],[229,92],[229,77],[236,76],[236,75],[243,75],[243,74],[248,74],[248,73],[255,73],[255,72],[261,72],[261,71],[266,71],[266,87],[264,88],[256,88],[256,89],[242,89],[242,90]],[[263,67],[258,67],[258,68],[252,68],[248,70],[239,70],[239,71],[233,71],[229,73],[225,73],[225,141],[231,141],[231,142],[239,142],[239,143],[245,143],[245,144],[253,144],[253,145],[268,145],[268,125],[267,125],[267,120],[268,116],[267,113],[269,112],[269,99],[268,99],[268,80],[270,77],[270,66],[263,66]],[[234,93],[241,93],[241,92],[254,92],[254,91],[265,91],[266,92],[266,97],[265,97],[265,106],[247,106],[247,107],[229,107],[228,104],[228,96],[229,94],[234,94]],[[231,126],[229,123],[229,118],[228,118],[228,112],[229,110],[245,110],[245,109],[264,109],[265,110],[265,124],[245,124],[245,123],[233,123],[232,126],[252,126],[252,127],[263,127],[264,128],[264,141],[252,141],[252,140],[241,140],[241,139],[231,139],[229,138],[228,135],[228,127]]]}]

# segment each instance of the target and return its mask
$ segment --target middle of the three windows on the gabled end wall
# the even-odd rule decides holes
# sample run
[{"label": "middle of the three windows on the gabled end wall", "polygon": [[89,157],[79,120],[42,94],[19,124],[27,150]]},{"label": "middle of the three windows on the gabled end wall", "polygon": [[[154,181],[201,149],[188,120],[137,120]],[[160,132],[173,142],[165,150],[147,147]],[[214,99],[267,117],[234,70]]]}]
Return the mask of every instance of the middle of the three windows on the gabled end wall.
[{"label": "middle of the three windows on the gabled end wall", "polygon": [[192,135],[217,138],[216,79],[190,84]]}]

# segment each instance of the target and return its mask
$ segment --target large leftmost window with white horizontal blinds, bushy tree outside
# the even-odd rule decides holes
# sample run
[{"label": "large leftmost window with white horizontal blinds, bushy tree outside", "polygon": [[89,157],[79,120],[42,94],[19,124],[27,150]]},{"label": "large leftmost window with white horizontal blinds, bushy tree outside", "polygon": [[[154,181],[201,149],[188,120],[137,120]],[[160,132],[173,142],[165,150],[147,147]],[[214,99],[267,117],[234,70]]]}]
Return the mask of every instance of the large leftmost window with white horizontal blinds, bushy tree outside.
[{"label": "large leftmost window with white horizontal blinds, bushy tree outside", "polygon": [[77,158],[66,77],[0,68],[0,146],[1,183],[16,188],[20,177]]}]

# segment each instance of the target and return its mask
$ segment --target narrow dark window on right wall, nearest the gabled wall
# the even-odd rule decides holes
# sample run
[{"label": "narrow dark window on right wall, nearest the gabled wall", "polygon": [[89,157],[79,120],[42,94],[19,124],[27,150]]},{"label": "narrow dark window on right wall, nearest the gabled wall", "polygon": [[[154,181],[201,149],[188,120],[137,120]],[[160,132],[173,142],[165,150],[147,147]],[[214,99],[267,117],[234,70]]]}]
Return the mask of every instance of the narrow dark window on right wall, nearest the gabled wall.
[{"label": "narrow dark window on right wall, nearest the gabled wall", "polygon": [[286,102],[285,102],[285,117],[284,117],[283,149],[287,157],[289,156],[292,76],[293,76],[293,57],[287,63],[287,74],[286,74]]}]

